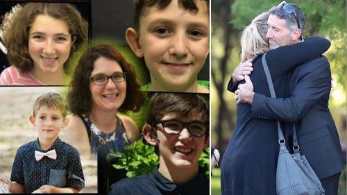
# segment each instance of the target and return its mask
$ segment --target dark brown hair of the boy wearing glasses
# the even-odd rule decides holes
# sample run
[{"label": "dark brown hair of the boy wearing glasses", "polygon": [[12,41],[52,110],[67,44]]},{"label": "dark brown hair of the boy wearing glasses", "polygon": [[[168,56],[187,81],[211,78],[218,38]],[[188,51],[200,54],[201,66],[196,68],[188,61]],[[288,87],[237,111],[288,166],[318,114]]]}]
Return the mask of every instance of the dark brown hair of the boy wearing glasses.
[{"label": "dark brown hair of the boy wearing glasses", "polygon": [[[209,120],[209,103],[206,94],[163,93],[157,92],[149,102],[147,124],[153,126],[167,114],[180,118],[198,117],[203,122]],[[209,130],[208,130],[209,133]]]}]

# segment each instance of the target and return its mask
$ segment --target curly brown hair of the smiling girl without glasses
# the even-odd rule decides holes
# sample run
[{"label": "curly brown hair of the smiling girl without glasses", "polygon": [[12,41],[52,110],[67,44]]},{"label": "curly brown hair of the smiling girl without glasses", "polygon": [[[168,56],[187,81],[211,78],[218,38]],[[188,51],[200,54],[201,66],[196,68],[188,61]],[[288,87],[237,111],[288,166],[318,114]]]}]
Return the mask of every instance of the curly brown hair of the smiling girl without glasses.
[{"label": "curly brown hair of the smiling girl without glasses", "polygon": [[[37,15],[49,15],[67,24],[71,39],[76,39],[69,59],[75,51],[87,44],[88,23],[75,6],[69,3],[26,3],[11,20],[3,38],[8,50],[8,61],[23,73],[31,71],[34,67],[28,50],[28,34]],[[68,61],[64,65],[65,71],[67,71]]]}]

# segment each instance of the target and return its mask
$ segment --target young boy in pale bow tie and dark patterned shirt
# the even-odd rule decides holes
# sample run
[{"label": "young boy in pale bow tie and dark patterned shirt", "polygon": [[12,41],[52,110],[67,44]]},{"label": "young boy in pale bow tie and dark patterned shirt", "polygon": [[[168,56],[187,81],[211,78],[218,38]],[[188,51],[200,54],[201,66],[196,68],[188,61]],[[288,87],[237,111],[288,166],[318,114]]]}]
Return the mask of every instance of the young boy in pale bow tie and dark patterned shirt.
[{"label": "young boy in pale bow tie and dark patterned shirt", "polygon": [[11,181],[0,178],[12,193],[78,193],[85,187],[78,151],[58,137],[68,124],[62,96],[46,93],[33,106],[35,141],[21,146],[13,162]]}]

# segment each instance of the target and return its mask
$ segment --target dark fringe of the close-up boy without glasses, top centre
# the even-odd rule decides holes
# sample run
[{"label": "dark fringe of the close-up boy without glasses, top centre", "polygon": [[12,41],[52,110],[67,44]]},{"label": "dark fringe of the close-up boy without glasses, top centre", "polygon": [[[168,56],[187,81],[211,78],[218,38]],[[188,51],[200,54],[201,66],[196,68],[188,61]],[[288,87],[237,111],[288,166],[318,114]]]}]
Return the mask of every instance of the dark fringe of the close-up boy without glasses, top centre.
[{"label": "dark fringe of the close-up boy without glasses, top centre", "polygon": [[[139,29],[139,18],[142,17],[148,8],[157,6],[162,10],[169,6],[172,0],[134,0],[134,26],[135,29]],[[198,12],[196,1],[205,1],[208,8],[210,6],[210,0],[178,0],[178,3],[186,10]],[[209,12],[208,12],[209,13]]]}]

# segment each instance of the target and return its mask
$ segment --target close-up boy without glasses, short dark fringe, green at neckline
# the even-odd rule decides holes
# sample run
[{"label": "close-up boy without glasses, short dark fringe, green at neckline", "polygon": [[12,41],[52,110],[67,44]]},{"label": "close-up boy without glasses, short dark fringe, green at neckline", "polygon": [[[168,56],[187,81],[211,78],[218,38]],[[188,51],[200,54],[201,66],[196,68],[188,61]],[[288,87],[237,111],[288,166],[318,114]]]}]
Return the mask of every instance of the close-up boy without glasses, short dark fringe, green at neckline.
[{"label": "close-up boy without glasses, short dark fringe, green at neckline", "polygon": [[135,0],[135,27],[126,41],[144,58],[151,83],[144,91],[208,93],[198,80],[210,52],[208,0]]}]

